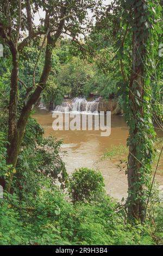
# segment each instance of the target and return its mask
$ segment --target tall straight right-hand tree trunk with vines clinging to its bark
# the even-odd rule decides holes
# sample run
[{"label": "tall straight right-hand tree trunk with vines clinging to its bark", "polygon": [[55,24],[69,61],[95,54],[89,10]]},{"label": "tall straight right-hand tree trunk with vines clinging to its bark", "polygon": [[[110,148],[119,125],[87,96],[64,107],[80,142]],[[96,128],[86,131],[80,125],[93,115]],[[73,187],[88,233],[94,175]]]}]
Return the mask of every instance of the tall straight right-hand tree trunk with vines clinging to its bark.
[{"label": "tall straight right-hand tree trunk with vines clinging to its bark", "polygon": [[[146,4],[146,5],[145,5]],[[133,8],[133,61],[129,82],[128,126],[128,217],[143,221],[146,204],[146,188],[150,181],[152,142],[149,138],[151,114],[145,95],[147,73],[146,47],[148,42],[147,1],[135,0]],[[146,77],[146,78],[145,78]]]}]

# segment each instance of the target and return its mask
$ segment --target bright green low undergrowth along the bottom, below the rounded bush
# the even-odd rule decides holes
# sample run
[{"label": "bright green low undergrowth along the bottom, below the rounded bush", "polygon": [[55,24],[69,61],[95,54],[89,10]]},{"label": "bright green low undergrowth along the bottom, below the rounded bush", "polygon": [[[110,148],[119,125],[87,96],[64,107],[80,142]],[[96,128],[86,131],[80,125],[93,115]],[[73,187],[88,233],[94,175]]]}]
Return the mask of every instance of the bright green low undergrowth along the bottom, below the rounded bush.
[{"label": "bright green low undergrowth along the bottom, below the rounded bush", "polygon": [[[48,184],[48,182],[46,182]],[[151,230],[131,227],[105,196],[93,204],[67,202],[51,182],[30,205],[15,195],[0,201],[0,245],[151,245]]]}]

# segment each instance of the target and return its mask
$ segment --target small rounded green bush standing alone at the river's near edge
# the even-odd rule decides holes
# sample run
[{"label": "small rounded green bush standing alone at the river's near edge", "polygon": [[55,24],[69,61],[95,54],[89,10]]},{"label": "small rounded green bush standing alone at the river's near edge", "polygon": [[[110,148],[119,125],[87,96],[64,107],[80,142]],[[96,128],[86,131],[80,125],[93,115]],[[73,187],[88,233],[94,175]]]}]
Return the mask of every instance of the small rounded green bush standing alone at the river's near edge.
[{"label": "small rounded green bush standing alone at the river's near edge", "polygon": [[104,194],[104,178],[95,169],[76,169],[70,178],[68,191],[72,202],[91,202]]}]

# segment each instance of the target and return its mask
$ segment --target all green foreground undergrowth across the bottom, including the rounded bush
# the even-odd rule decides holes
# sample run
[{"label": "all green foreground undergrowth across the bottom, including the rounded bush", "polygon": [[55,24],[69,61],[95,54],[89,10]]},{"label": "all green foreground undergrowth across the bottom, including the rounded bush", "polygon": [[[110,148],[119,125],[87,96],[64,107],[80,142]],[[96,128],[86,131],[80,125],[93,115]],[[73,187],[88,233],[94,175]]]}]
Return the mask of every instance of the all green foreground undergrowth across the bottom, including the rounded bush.
[{"label": "all green foreground undergrowth across the bottom, including the rounded bush", "polygon": [[[3,154],[2,150],[1,159]],[[24,160],[20,157],[19,161],[21,167]],[[33,159],[28,161],[30,174]],[[5,172],[5,162],[2,163]],[[23,193],[15,189],[13,194],[4,192],[4,199],[0,199],[0,245],[162,244],[163,208],[159,206],[155,218],[159,228],[154,229],[148,221],[146,225],[128,224],[124,207],[106,196],[103,176],[98,171],[74,171],[68,187],[72,202],[54,185],[52,176],[40,172],[34,176],[33,170],[32,177],[35,182],[28,189],[29,176],[24,179],[28,184],[22,183]]]}]

